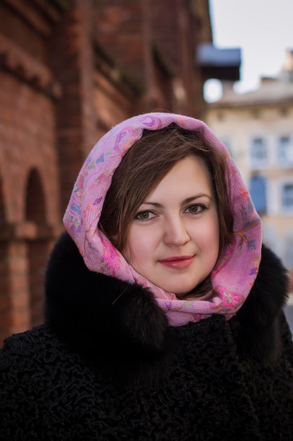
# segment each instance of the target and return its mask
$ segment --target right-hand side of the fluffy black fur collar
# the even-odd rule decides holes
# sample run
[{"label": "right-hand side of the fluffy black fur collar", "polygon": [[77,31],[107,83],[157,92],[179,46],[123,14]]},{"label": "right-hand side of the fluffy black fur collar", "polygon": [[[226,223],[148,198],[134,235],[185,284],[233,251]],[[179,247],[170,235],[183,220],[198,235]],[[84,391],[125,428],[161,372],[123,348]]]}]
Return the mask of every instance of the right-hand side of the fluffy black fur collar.
[{"label": "right-hand side of the fluffy black fur collar", "polygon": [[252,290],[230,320],[240,352],[273,361],[281,350],[280,314],[287,301],[287,270],[271,249],[263,245],[261,264]]}]

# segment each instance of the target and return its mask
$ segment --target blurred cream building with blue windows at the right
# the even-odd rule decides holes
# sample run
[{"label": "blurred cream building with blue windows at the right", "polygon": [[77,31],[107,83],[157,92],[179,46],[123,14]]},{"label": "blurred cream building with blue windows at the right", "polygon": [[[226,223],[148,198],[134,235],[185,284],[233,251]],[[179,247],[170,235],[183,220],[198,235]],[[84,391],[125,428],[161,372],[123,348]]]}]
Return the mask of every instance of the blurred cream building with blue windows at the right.
[{"label": "blurred cream building with blue windows at the right", "polygon": [[[254,92],[209,104],[205,119],[240,169],[263,220],[263,240],[293,271],[293,51],[276,78],[261,78]],[[292,287],[293,288],[293,287]]]}]

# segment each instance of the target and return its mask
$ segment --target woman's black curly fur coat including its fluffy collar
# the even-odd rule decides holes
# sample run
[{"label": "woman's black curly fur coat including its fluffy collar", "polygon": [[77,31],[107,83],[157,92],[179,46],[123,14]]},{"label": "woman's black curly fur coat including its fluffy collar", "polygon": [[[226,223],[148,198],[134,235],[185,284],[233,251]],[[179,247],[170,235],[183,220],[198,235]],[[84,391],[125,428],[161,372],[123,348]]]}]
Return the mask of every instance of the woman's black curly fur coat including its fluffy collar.
[{"label": "woman's black curly fur coat including its fluffy collar", "polygon": [[235,317],[171,328],[148,290],[89,271],[65,233],[44,325],[0,352],[0,440],[293,440],[286,292],[263,247]]}]

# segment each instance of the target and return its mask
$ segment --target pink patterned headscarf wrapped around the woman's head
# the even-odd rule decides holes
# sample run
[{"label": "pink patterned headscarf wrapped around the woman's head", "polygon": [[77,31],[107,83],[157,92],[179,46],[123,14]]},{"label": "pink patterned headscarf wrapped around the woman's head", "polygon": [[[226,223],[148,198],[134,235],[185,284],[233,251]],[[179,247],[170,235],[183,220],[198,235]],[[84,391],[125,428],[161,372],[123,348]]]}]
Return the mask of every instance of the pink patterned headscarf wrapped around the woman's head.
[{"label": "pink patterned headscarf wrapped around the woman's head", "polygon": [[[144,129],[158,130],[176,123],[198,130],[208,142],[226,153],[229,201],[233,212],[233,243],[219,257],[211,273],[214,293],[207,299],[180,300],[136,273],[107,237],[98,230],[105,195],[112,175],[126,151]],[[247,298],[261,260],[261,221],[226,147],[200,120],[172,113],[145,113],[119,123],[93,147],[79,172],[64,216],[64,225],[91,271],[149,287],[169,324],[184,325],[218,313],[231,318]],[[97,294],[98,295],[98,294]]]}]

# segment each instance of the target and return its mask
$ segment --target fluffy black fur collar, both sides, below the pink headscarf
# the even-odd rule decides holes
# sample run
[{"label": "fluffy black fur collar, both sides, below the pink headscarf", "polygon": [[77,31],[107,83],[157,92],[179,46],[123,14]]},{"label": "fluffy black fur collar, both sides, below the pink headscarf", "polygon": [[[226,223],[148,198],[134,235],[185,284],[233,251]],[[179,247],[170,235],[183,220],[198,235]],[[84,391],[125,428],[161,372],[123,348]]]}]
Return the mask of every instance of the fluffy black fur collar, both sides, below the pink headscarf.
[{"label": "fluffy black fur collar, both sides, below the pink headscarf", "polygon": [[[132,365],[137,360],[159,363],[169,354],[171,328],[151,292],[89,271],[66,232],[48,261],[45,285],[46,321],[72,350],[94,364],[109,359]],[[263,247],[254,287],[229,321],[240,352],[273,359],[278,351],[275,323],[287,285],[282,263]]]}]

